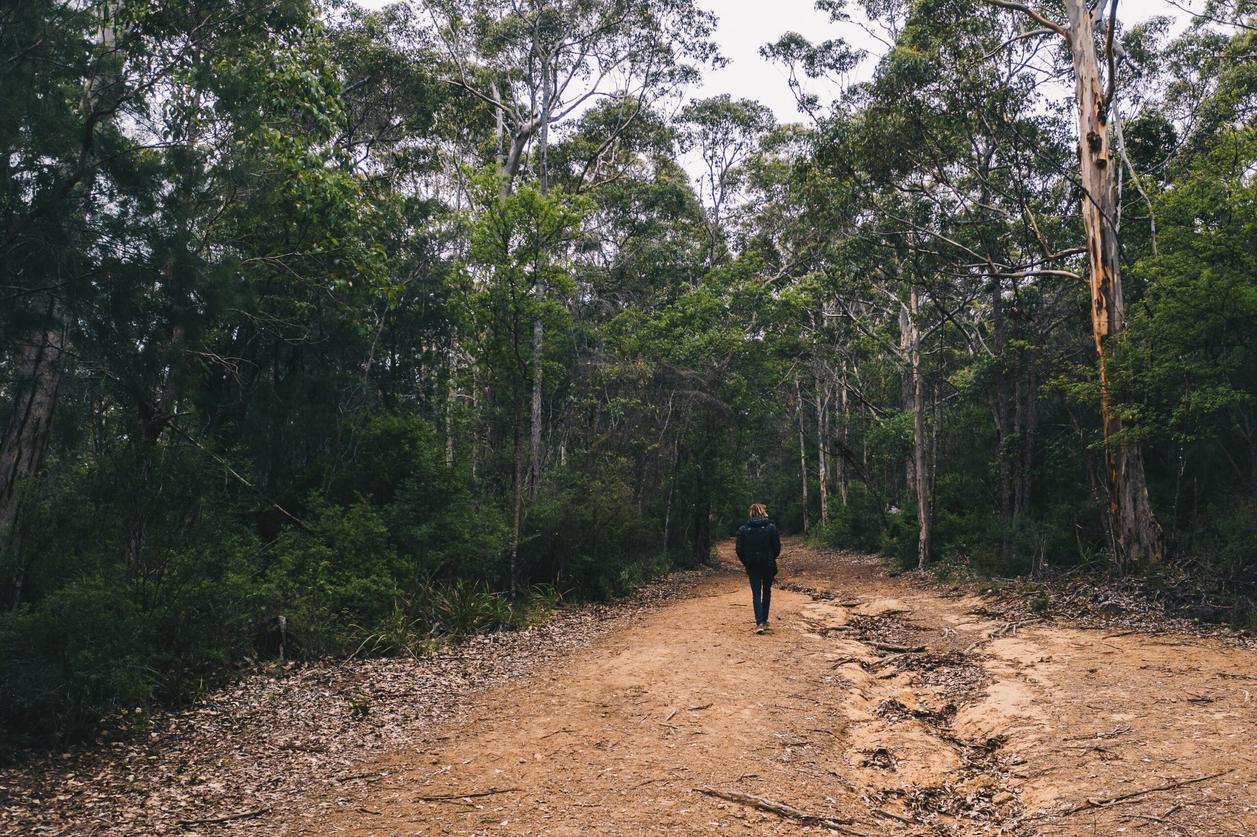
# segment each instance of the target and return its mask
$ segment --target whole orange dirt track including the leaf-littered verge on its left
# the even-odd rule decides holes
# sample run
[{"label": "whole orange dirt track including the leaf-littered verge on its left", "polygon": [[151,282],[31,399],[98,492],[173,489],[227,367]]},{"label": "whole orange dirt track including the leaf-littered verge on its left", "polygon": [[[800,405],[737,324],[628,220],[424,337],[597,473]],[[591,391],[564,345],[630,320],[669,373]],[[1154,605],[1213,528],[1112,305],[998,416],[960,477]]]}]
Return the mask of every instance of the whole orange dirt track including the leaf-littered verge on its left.
[{"label": "whole orange dirt track including the leaf-littered verge on its left", "polygon": [[256,671],[0,772],[0,834],[1257,837],[1251,643],[1013,628],[794,543],[755,636],[720,558],[422,661]]}]

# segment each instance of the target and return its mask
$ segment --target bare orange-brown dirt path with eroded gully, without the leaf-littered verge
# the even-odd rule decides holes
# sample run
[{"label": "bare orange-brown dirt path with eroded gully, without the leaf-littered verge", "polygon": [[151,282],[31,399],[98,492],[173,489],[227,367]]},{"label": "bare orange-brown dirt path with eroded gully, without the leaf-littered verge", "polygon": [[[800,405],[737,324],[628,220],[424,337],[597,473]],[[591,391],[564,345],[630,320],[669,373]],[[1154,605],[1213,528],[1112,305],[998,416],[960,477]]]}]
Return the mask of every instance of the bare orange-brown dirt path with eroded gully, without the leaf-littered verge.
[{"label": "bare orange-brown dirt path with eroded gully, without the leaf-littered verge", "polygon": [[973,615],[978,598],[793,544],[779,582],[764,636],[749,630],[743,577],[710,577],[562,669],[483,692],[469,720],[275,824],[363,837],[1257,834],[1251,651],[1053,625],[1013,635]]}]

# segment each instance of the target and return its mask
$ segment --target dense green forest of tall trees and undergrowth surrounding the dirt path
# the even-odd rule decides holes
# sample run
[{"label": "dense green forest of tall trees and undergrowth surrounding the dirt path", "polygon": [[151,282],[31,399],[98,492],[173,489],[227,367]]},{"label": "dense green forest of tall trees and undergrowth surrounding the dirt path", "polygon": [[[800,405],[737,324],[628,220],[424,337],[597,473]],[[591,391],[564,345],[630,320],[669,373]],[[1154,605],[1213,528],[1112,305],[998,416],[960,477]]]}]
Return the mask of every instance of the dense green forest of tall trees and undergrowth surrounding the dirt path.
[{"label": "dense green forest of tall trees and undergrowth surrounding the dirt path", "polygon": [[1252,4],[817,5],[887,50],[767,44],[782,126],[686,96],[694,0],[6,4],[4,729],[616,596],[750,501],[1251,622]]}]

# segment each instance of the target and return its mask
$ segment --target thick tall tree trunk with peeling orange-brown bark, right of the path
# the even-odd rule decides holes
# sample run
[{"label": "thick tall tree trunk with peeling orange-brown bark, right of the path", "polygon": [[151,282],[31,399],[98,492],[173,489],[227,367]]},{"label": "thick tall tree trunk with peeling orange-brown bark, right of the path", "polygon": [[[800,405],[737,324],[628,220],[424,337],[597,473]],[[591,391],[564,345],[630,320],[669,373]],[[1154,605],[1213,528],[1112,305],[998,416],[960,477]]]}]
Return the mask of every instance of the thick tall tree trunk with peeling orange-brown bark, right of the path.
[{"label": "thick tall tree trunk with peeling orange-brown bark, right of the path", "polygon": [[1109,153],[1109,103],[1101,87],[1086,1],[1065,0],[1065,6],[1079,99],[1082,226],[1091,263],[1091,324],[1100,364],[1109,510],[1123,557],[1134,563],[1159,563],[1165,547],[1148,501],[1143,450],[1139,442],[1116,440],[1123,422],[1110,392],[1109,363],[1119,351],[1125,319],[1115,229],[1117,201]]}]

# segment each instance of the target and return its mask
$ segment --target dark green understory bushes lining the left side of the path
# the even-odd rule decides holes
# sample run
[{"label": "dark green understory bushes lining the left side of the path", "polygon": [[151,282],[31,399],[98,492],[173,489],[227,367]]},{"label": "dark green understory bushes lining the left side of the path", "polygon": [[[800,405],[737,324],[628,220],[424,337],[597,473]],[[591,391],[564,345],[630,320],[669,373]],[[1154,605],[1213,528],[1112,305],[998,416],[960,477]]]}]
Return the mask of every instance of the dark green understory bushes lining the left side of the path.
[{"label": "dark green understory bushes lining the left side of the path", "polygon": [[529,504],[512,599],[500,499],[446,464],[421,418],[373,416],[357,434],[352,466],[285,498],[298,520],[269,539],[274,509],[225,490],[221,465],[184,447],[145,451],[143,484],[119,456],[41,495],[24,515],[36,559],[23,602],[0,615],[9,744],[195,700],[241,661],[421,656],[564,597],[623,596],[671,566],[611,460],[557,475]]}]

